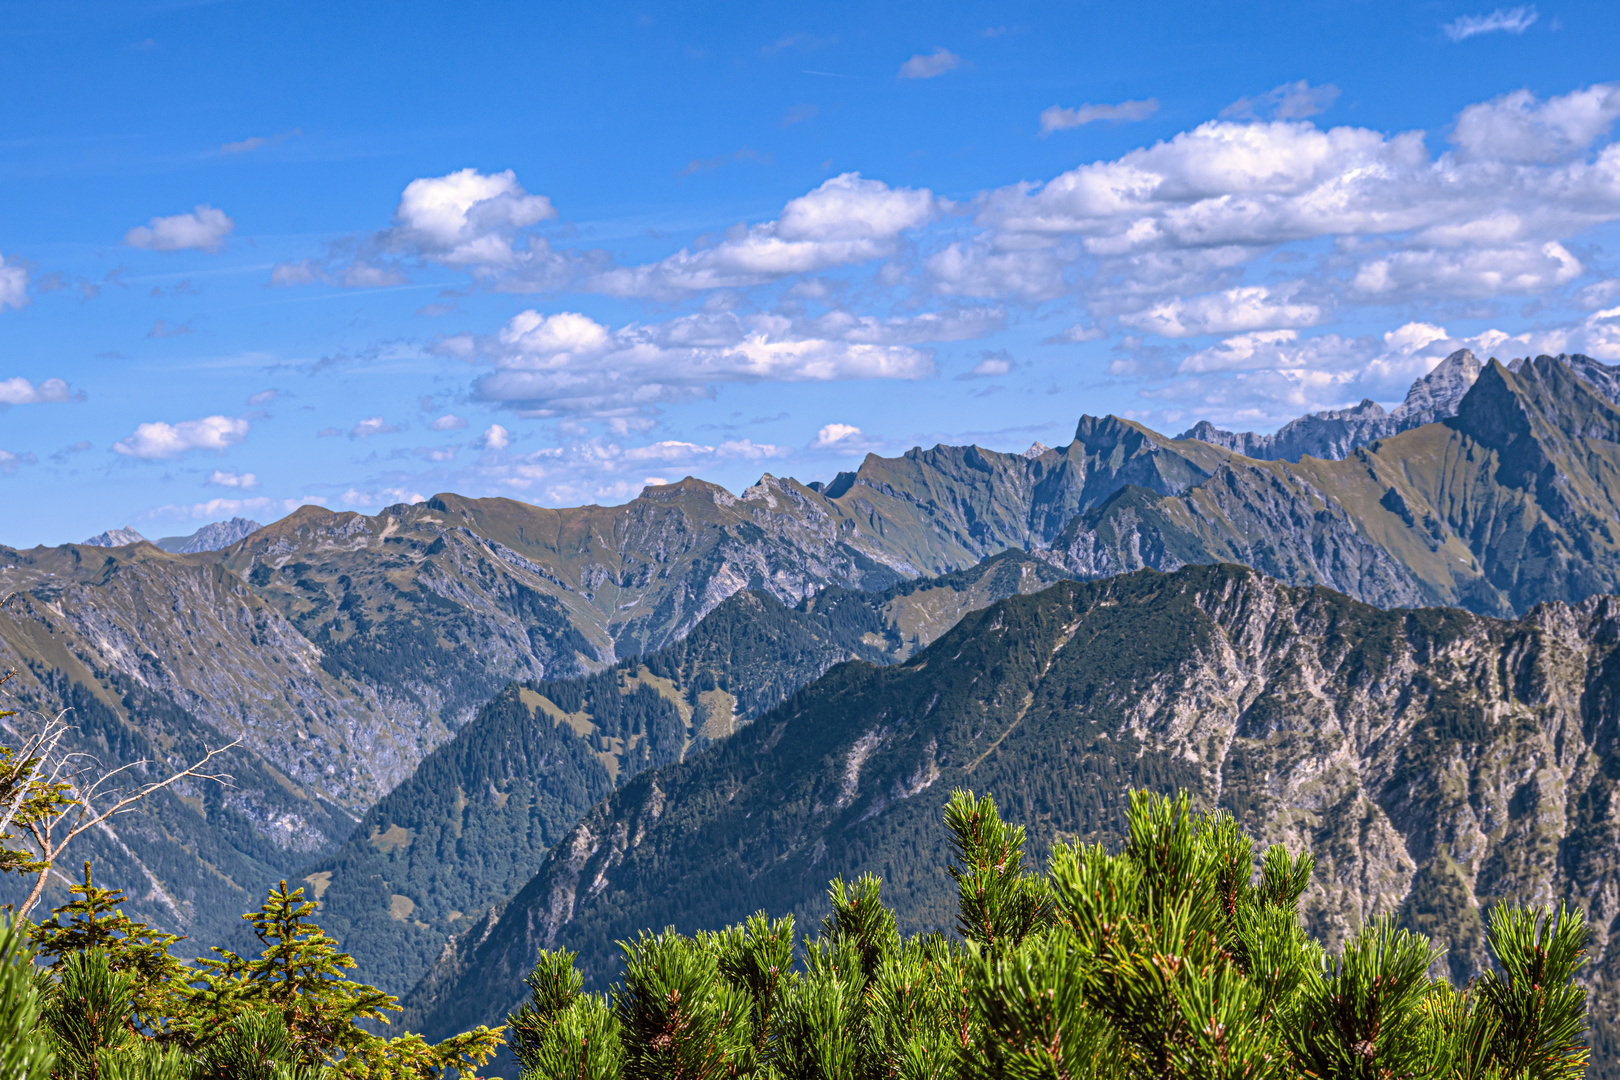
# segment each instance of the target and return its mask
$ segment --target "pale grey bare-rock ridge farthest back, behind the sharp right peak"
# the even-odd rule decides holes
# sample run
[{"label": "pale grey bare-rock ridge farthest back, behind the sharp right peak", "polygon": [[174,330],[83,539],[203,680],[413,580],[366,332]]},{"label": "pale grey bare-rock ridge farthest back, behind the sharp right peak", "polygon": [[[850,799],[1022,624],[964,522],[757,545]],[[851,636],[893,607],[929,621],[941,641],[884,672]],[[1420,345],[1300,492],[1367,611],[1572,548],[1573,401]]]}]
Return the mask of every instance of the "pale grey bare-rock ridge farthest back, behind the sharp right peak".
[{"label": "pale grey bare-rock ridge farthest back, behind the sharp right peak", "polygon": [[[1588,356],[1576,359],[1588,364],[1597,363]],[[1602,364],[1597,366],[1602,368]],[[1176,439],[1200,439],[1265,461],[1298,461],[1306,455],[1336,461],[1349,457],[1356,447],[1456,416],[1458,403],[1474,385],[1474,379],[1482,369],[1477,356],[1460,348],[1442,359],[1429,374],[1418,377],[1406,392],[1406,400],[1390,411],[1385,411],[1377,402],[1364,398],[1351,408],[1309,413],[1291,419],[1268,436],[1252,431],[1221,431],[1202,419]],[[1614,393],[1607,387],[1604,392],[1614,400]]]}]

